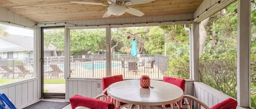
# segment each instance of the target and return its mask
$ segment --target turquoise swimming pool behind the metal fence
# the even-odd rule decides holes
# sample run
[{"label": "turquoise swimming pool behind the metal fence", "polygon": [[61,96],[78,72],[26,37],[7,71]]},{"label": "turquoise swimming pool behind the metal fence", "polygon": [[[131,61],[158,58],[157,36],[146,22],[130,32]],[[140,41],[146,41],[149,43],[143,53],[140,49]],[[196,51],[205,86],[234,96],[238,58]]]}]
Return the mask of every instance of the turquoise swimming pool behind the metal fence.
[{"label": "turquoise swimming pool behind the metal fence", "polygon": [[[120,67],[122,66],[121,63],[111,63],[111,67]],[[58,65],[60,69],[64,69],[63,64]],[[87,70],[93,70],[93,69],[104,69],[106,68],[106,62],[84,62],[84,63],[72,63],[70,67],[82,67]],[[44,70],[51,70],[51,67],[49,65],[46,65],[44,67]]]}]

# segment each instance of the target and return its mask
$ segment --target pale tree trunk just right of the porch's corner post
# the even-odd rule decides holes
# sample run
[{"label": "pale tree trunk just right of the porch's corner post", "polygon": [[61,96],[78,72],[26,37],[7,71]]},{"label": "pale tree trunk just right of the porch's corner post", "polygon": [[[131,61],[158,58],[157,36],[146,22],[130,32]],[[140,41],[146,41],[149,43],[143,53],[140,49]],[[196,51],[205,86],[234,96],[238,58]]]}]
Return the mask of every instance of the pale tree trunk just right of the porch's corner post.
[{"label": "pale tree trunk just right of the porch's corner post", "polygon": [[209,22],[209,17],[206,18],[204,21],[202,21],[199,24],[199,35],[200,35],[200,39],[199,39],[199,57],[203,54],[204,51],[204,47],[205,47],[205,40],[207,37],[207,31],[205,29],[207,23]]}]

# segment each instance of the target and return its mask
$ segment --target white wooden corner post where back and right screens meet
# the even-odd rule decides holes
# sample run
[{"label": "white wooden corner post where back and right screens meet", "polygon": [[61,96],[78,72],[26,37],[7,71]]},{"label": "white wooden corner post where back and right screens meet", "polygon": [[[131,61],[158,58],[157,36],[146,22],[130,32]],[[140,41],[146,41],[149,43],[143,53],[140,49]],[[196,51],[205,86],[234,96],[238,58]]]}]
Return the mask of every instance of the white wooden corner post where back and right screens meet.
[{"label": "white wooden corner post where back and right screens meet", "polygon": [[199,81],[199,23],[192,24],[192,37],[190,37],[190,74],[194,81]]}]

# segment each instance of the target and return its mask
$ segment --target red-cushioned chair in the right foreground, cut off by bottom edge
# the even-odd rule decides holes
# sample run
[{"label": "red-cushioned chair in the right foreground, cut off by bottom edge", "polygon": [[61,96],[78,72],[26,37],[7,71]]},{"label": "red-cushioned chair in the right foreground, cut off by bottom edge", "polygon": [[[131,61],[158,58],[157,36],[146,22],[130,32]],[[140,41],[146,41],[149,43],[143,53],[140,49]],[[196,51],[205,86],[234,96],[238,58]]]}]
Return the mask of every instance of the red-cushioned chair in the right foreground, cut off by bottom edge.
[{"label": "red-cushioned chair in the right foreground, cut off by bottom edge", "polygon": [[[189,100],[189,108],[192,108],[192,101],[195,101],[198,103],[199,109],[201,108],[201,106],[203,106],[206,109],[236,109],[237,106],[237,101],[232,99],[232,98],[228,98],[222,102],[219,102],[218,104],[209,107],[206,104],[204,104],[204,102],[200,101],[199,99],[191,96],[191,95],[184,95],[183,98],[188,98]],[[182,108],[180,108],[182,109]]]}]

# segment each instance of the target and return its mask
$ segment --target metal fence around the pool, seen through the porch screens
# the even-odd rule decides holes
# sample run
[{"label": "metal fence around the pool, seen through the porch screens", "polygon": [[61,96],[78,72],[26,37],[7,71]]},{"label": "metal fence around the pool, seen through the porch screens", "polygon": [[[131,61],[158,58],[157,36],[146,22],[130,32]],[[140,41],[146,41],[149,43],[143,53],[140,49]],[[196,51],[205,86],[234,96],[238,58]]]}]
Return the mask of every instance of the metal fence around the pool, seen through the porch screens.
[{"label": "metal fence around the pool, seen through the porch screens", "polygon": [[[166,60],[168,57],[156,54],[136,57],[130,54],[112,55],[111,75],[122,74],[124,78],[148,75],[152,79],[160,79],[167,69]],[[0,66],[0,78],[31,78],[34,75],[33,59],[1,60]],[[64,79],[64,56],[45,57],[43,69],[44,79]],[[69,72],[71,78],[103,78],[106,76],[106,55],[70,56]]]}]

